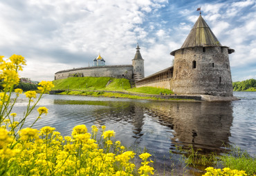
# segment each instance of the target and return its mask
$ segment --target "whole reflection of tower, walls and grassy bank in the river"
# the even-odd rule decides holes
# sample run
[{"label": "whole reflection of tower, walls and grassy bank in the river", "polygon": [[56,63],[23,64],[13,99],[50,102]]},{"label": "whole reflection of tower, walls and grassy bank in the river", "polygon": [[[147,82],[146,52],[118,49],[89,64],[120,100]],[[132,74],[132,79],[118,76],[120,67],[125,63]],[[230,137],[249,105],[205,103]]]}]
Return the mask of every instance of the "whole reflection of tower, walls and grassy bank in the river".
[{"label": "whole reflection of tower, walls and grassy bank in the river", "polygon": [[[232,126],[230,102],[156,102],[146,101],[66,101],[54,100],[54,104],[82,105],[79,113],[73,112],[73,120],[86,119],[98,126],[108,124],[130,124],[136,144],[145,133],[144,120],[154,118],[158,124],[172,131],[172,147],[176,144],[192,145],[208,150],[220,149],[229,143]],[[88,110],[91,112],[88,112]],[[74,111],[74,108],[72,109]],[[84,112],[82,112],[84,111]],[[62,111],[59,111],[62,113]],[[71,113],[69,111],[69,113]],[[73,114],[72,113],[72,114]],[[57,115],[60,116],[60,115]],[[163,127],[161,127],[163,128]],[[128,129],[126,129],[128,130]],[[147,129],[147,131],[150,129]],[[169,130],[169,131],[170,131]],[[165,132],[166,133],[166,132]],[[147,139],[146,139],[147,140]]]}]

